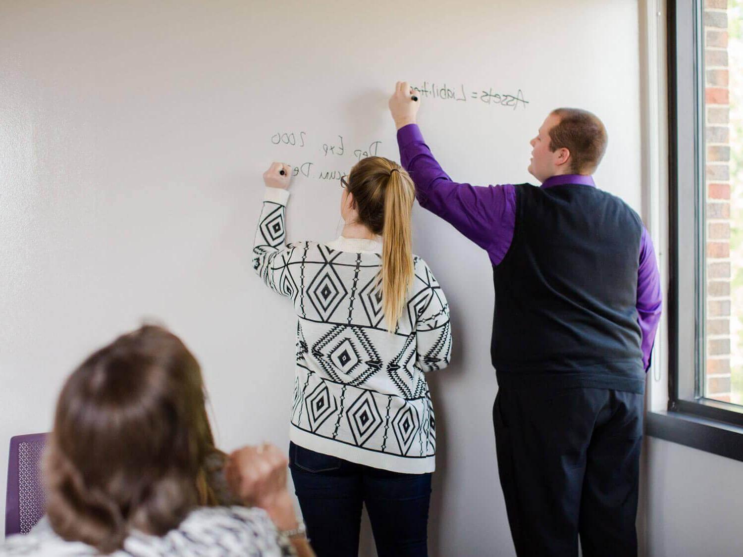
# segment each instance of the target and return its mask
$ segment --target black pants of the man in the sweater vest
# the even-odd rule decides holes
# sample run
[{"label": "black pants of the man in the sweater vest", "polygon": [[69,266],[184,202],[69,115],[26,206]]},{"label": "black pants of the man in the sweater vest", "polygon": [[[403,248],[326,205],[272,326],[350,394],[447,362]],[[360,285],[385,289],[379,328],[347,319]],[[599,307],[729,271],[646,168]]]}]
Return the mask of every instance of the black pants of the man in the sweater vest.
[{"label": "black pants of the man in the sweater vest", "polygon": [[519,557],[636,556],[643,395],[501,388],[498,468]]}]

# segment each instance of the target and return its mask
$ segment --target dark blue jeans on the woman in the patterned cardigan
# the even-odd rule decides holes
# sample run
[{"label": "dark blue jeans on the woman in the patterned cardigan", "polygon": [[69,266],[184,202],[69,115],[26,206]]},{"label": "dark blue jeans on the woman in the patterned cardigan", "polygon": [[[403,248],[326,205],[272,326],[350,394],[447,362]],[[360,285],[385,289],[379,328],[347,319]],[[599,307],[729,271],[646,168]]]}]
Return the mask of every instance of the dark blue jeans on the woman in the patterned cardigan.
[{"label": "dark blue jeans on the woman in the patterned cardigan", "polygon": [[289,467],[317,557],[356,557],[366,503],[379,557],[426,557],[431,474],[400,474],[290,443]]}]

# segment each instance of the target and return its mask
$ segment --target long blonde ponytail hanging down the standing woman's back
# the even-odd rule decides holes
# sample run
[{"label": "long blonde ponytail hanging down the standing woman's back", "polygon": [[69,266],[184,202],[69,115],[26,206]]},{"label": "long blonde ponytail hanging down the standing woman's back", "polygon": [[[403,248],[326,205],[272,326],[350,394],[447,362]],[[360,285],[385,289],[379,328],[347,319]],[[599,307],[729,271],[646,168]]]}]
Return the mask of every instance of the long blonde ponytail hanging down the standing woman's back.
[{"label": "long blonde ponytail hanging down the standing woman's back", "polygon": [[[404,174],[403,174],[404,172]],[[393,169],[384,200],[382,229],[382,307],[387,330],[398,326],[413,281],[412,230],[410,215],[415,186],[407,172]]]}]

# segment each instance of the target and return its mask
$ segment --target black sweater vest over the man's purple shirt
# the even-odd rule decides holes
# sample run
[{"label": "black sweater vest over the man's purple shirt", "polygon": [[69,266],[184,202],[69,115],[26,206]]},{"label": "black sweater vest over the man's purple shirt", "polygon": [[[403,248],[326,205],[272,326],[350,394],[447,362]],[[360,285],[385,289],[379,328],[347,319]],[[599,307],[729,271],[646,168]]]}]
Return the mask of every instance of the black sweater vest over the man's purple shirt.
[{"label": "black sweater vest over the man's purple shirt", "polygon": [[499,385],[642,392],[640,217],[593,186],[516,186],[516,226],[496,289]]}]

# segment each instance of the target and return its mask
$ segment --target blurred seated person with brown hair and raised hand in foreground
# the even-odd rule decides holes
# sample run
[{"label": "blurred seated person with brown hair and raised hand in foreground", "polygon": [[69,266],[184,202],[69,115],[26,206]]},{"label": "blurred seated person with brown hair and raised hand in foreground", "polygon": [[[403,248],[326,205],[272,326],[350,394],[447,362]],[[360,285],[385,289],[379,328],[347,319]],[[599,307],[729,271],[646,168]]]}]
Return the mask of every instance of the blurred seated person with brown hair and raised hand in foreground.
[{"label": "blurred seated person with brown hair and raised hand in foreground", "polygon": [[47,516],[0,556],[313,556],[282,452],[227,457],[204,400],[198,362],[163,328],[144,326],[89,356],[56,406]]}]

